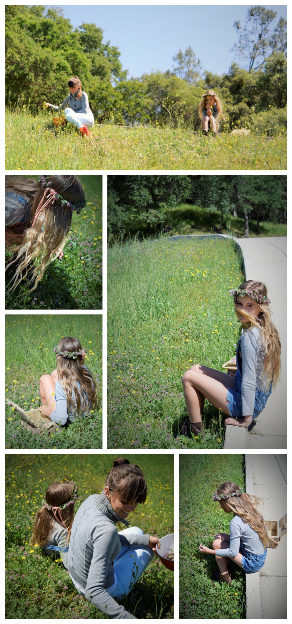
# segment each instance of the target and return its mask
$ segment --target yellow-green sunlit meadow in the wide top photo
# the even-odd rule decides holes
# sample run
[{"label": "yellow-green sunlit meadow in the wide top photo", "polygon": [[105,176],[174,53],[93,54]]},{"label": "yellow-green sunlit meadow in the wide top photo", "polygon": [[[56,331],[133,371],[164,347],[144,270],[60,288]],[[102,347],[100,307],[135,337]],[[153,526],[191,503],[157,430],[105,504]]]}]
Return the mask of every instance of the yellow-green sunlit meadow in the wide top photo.
[{"label": "yellow-green sunlit meadow in the wide top photo", "polygon": [[286,170],[286,137],[95,125],[83,138],[48,112],[6,110],[6,170]]}]

